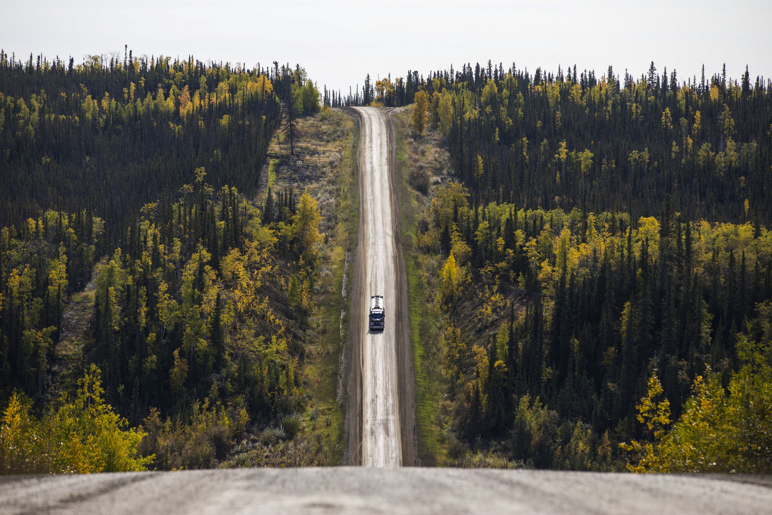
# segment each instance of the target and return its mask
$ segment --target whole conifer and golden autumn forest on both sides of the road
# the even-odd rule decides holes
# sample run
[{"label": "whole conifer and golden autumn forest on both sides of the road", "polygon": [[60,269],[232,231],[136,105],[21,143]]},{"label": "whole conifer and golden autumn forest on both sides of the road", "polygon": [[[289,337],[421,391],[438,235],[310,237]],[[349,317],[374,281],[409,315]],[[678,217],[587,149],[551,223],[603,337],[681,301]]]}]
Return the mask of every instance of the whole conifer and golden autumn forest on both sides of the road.
[{"label": "whole conifer and golden autumn forest on both sides of the road", "polygon": [[356,106],[394,108],[418,206],[425,464],[772,472],[770,80],[488,61],[346,93],[125,49],[0,52],[0,473],[244,466],[252,441],[340,464],[308,377],[356,208],[274,183],[302,120],[355,153]]}]

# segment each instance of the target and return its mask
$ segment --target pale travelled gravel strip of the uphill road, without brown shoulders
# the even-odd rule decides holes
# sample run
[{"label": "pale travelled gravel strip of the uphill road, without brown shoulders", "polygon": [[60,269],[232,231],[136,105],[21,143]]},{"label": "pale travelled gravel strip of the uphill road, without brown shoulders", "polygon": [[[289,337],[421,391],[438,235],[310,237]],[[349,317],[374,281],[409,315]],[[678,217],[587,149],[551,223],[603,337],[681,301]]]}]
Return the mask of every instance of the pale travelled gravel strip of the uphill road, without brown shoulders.
[{"label": "pale travelled gravel strip of the uphill road, without brown shoulders", "polygon": [[[377,107],[357,107],[361,120],[360,231],[364,245],[357,249],[361,280],[352,296],[352,309],[361,310],[364,324],[361,337],[362,442],[361,464],[395,467],[402,465],[396,354],[395,278],[397,258],[394,249],[392,191],[389,174],[388,127],[384,112]],[[364,161],[364,162],[362,162]],[[383,295],[386,324],[383,331],[370,331],[367,320],[370,297]],[[363,319],[360,319],[363,320]],[[356,341],[356,340],[355,340]]]}]

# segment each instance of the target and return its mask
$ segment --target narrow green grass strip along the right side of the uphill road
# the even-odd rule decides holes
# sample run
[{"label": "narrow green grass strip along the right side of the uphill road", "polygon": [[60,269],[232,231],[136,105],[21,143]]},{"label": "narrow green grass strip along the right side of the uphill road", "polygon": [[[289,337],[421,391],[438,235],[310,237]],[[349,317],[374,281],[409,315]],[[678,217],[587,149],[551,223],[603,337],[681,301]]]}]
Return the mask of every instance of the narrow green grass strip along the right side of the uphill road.
[{"label": "narrow green grass strip along the right side of the uphill road", "polygon": [[[401,214],[401,242],[408,274],[408,311],[415,370],[415,418],[418,429],[418,456],[424,466],[444,466],[447,451],[443,445],[442,400],[445,391],[442,370],[438,367],[439,320],[432,303],[426,302],[426,269],[423,256],[413,242],[417,230],[418,201],[408,185],[408,161],[405,134],[408,113],[395,115],[397,133],[398,199]],[[433,359],[432,359],[433,358]]]}]

